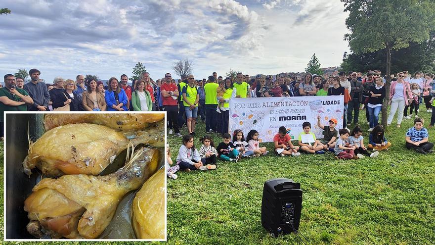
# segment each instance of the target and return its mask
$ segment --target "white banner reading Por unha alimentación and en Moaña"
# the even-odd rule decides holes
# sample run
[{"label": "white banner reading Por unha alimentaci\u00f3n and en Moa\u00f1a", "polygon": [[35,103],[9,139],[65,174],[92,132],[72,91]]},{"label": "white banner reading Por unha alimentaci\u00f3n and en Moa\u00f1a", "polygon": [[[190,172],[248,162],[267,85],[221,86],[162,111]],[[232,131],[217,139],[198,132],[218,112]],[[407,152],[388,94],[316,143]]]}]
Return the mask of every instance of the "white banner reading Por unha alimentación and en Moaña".
[{"label": "white banner reading Por unha alimentaci\u00f3n and en Moa\u00f1a", "polygon": [[337,130],[343,128],[343,96],[304,96],[271,98],[231,98],[229,100],[229,130],[259,132],[260,142],[273,142],[278,128],[284,126],[292,140],[303,132],[302,124],[311,123],[311,132],[317,139],[323,138],[320,122],[328,127],[328,121],[337,119]]}]

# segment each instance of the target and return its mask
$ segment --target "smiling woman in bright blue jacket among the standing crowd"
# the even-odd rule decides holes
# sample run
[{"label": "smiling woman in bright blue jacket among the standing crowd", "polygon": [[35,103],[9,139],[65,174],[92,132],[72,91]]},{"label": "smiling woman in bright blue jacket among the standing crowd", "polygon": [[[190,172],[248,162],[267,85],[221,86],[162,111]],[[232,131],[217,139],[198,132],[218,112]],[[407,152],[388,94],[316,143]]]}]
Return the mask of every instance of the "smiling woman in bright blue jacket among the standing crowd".
[{"label": "smiling woman in bright blue jacket among the standing crowd", "polygon": [[109,111],[127,111],[128,98],[126,92],[120,88],[119,81],[116,77],[109,79],[109,86],[104,96],[106,99],[107,110]]}]

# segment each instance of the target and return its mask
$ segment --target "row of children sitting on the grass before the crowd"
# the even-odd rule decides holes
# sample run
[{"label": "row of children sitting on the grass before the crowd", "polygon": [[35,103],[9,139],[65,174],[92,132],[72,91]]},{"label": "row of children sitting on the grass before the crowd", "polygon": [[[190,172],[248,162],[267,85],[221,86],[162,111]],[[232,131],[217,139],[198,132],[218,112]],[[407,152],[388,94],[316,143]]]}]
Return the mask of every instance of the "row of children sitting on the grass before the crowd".
[{"label": "row of children sitting on the grass before the crowd", "polygon": [[[429,133],[423,128],[424,119],[415,118],[414,127],[406,132],[406,144],[408,149],[428,154],[433,153],[434,144],[428,142]],[[311,124],[302,124],[303,132],[298,137],[298,145],[292,144],[291,137],[287,134],[284,126],[279,127],[278,134],[273,138],[275,153],[280,156],[291,155],[300,156],[301,152],[324,154],[326,151],[333,152],[336,159],[359,159],[365,156],[377,157],[379,151],[388,150],[391,143],[385,138],[384,127],[380,124],[374,127],[369,135],[369,144],[364,146],[362,130],[356,126],[350,133],[348,129],[340,129],[337,132],[337,119],[328,121],[328,126],[320,123],[320,116],[317,117],[317,126],[323,129],[322,140],[317,140],[311,132]],[[203,144],[198,151],[194,146],[193,136],[183,136],[183,145],[178,150],[176,165],[171,159],[171,151],[167,147],[167,176],[177,178],[175,174],[178,170],[190,172],[191,170],[211,170],[216,169],[217,158],[224,161],[238,162],[242,157],[260,157],[268,153],[266,147],[260,147],[259,133],[256,130],[249,131],[246,140],[241,130],[235,130],[232,137],[230,134],[222,135],[222,142],[217,147],[212,137],[205,135],[200,142]],[[372,152],[369,152],[370,149]]]}]

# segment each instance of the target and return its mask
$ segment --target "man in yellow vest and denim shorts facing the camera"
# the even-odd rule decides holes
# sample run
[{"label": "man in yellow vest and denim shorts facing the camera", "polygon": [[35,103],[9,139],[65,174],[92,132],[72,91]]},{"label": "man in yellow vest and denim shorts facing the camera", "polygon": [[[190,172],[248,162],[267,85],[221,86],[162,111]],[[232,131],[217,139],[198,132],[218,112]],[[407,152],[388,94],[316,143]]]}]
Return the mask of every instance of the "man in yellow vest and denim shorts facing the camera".
[{"label": "man in yellow vest and denim shorts facing the camera", "polygon": [[181,94],[183,95],[183,105],[186,111],[187,130],[190,135],[195,135],[196,117],[198,115],[198,89],[195,86],[195,78],[193,75],[187,77],[188,84],[183,87]]}]

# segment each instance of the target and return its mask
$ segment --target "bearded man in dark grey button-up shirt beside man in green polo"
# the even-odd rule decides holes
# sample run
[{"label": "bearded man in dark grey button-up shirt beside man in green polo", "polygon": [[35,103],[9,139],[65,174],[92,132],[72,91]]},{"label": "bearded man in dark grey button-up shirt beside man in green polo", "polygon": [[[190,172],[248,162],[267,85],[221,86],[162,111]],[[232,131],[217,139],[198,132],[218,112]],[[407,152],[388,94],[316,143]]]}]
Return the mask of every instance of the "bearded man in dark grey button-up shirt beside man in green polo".
[{"label": "bearded man in dark grey button-up shirt beside man in green polo", "polygon": [[31,111],[46,111],[48,110],[48,102],[50,101],[50,94],[48,93],[45,83],[39,80],[41,72],[38,69],[31,69],[29,71],[30,83],[24,85],[24,90],[29,93],[33,103],[29,104],[27,110]]}]

